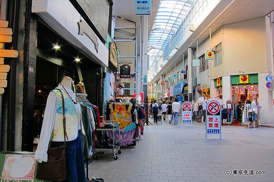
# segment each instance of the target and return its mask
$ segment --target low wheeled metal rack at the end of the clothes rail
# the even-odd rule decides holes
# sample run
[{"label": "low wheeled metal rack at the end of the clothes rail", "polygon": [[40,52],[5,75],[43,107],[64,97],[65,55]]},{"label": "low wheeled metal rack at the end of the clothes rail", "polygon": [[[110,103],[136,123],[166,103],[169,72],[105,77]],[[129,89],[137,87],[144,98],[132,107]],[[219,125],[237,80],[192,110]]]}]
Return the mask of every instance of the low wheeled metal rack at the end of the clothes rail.
[{"label": "low wheeled metal rack at the end of the clothes rail", "polygon": [[[96,132],[101,131],[103,134],[103,131],[112,131],[113,134],[113,143],[112,143],[112,148],[95,148],[94,149],[94,159],[97,160],[98,156],[100,155],[113,155],[114,160],[117,160],[118,157],[116,154],[121,154],[120,150],[120,145],[115,145],[115,140],[114,140],[114,131],[115,129],[118,130],[118,138],[120,138],[120,130],[119,127],[115,127],[114,123],[119,124],[119,121],[107,121],[107,123],[101,123],[101,127],[96,129]],[[112,128],[106,128],[105,125],[112,126]],[[96,146],[96,145],[95,145]],[[106,153],[105,153],[106,152]]]}]

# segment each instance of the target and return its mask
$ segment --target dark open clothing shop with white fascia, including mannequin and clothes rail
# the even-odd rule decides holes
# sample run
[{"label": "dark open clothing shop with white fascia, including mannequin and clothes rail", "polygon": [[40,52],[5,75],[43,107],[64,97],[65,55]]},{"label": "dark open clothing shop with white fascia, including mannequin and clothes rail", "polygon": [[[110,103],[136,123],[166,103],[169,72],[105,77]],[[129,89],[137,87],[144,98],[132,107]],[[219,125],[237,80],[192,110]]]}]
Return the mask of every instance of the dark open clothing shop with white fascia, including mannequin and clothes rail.
[{"label": "dark open clothing shop with white fascia, including mannequin and clothes rail", "polygon": [[[105,107],[102,101],[103,67],[112,60],[109,56],[117,58],[114,51],[109,55],[108,50],[113,47],[115,50],[112,43],[107,43],[109,17],[92,20],[95,27],[91,23],[94,17],[91,11],[81,12],[76,9],[78,6],[68,0],[47,0],[45,4],[33,1],[32,4],[32,13],[38,17],[34,158],[38,162],[49,160],[49,141],[50,147],[59,147],[66,141],[67,151],[75,146],[76,150],[67,152],[69,182],[87,180],[83,159],[94,153],[95,128],[103,122],[100,117]],[[108,15],[109,5],[100,11]],[[66,120],[64,131],[62,113]]]}]

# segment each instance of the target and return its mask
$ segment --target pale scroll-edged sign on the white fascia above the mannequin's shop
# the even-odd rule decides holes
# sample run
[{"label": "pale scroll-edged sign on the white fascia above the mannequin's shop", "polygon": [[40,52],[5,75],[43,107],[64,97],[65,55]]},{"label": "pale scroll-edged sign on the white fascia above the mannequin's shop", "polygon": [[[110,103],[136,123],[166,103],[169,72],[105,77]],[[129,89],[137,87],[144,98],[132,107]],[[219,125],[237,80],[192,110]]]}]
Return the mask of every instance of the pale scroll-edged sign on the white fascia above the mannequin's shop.
[{"label": "pale scroll-edged sign on the white fascia above the mannequin's shop", "polygon": [[90,38],[90,40],[94,43],[94,48],[96,49],[97,53],[98,53],[98,38],[96,36],[96,34],[93,32],[93,30],[91,29],[91,27],[88,25],[88,23],[84,20],[80,20],[78,22],[79,24],[79,35],[84,35],[86,34],[88,36],[88,38]]}]

